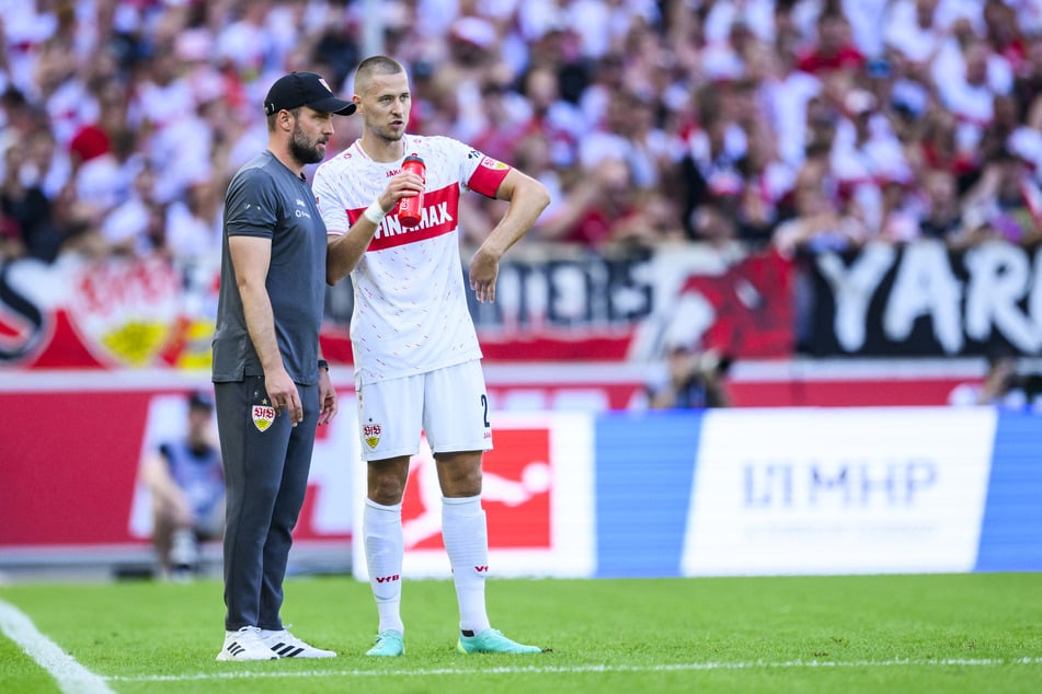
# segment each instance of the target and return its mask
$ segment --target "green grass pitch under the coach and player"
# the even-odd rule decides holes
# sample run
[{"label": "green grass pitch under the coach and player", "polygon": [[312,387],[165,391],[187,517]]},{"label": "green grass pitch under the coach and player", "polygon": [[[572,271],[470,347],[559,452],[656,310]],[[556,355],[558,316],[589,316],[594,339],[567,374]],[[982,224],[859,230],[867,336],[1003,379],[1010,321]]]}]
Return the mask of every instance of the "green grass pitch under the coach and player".
[{"label": "green grass pitch under the coach and player", "polygon": [[[0,588],[8,617],[27,616],[121,693],[1042,692],[1042,574],[491,579],[488,598],[494,626],[549,651],[457,653],[443,580],[405,581],[405,656],[377,661],[364,655],[376,629],[367,583],[290,578],[284,620],[340,657],[256,663],[214,660],[219,581]],[[0,691],[62,691],[9,623]]]}]

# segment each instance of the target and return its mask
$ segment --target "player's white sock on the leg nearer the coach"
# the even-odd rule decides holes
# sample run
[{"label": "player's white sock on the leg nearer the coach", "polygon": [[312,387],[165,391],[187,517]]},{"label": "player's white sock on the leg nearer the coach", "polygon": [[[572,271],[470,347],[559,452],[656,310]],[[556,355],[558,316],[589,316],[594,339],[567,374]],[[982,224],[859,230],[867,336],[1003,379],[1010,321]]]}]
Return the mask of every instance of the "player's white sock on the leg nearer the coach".
[{"label": "player's white sock on the leg nearer the coach", "polygon": [[362,516],[362,533],[365,537],[369,586],[380,615],[379,631],[394,629],[404,634],[401,617],[402,554],[405,547],[402,505],[383,506],[367,498]]}]

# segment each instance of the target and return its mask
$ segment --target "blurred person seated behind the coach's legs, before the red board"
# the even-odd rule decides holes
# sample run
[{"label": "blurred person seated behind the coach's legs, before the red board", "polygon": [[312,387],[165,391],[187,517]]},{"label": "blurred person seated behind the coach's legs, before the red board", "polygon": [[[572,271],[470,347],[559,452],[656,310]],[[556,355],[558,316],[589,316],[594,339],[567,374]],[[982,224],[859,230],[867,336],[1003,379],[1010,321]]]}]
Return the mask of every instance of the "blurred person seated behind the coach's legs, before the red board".
[{"label": "blurred person seated behind the coach's legs, before the red board", "polygon": [[195,392],[186,405],[183,436],[160,442],[140,469],[151,494],[160,574],[178,580],[202,568],[199,543],[220,540],[225,530],[225,474],[213,429],[214,398]]}]

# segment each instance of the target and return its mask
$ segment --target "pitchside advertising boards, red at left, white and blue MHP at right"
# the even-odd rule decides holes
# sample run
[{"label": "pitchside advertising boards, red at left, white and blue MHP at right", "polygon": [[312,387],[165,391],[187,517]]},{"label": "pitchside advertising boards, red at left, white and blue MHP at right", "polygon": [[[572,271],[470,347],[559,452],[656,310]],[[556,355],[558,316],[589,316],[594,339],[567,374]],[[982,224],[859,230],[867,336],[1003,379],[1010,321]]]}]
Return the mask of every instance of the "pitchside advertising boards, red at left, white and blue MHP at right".
[{"label": "pitchside advertising boards, red at left, white and blue MHP at right", "polygon": [[[148,551],[144,452],[183,386],[104,375],[0,388],[0,568]],[[65,379],[68,381],[68,379]],[[364,577],[351,392],[320,429],[295,532]],[[497,576],[1042,570],[1042,417],[993,408],[499,412],[484,497]],[[430,449],[405,571],[448,576]],[[352,545],[354,560],[350,560]],[[297,548],[295,547],[295,552]]]}]

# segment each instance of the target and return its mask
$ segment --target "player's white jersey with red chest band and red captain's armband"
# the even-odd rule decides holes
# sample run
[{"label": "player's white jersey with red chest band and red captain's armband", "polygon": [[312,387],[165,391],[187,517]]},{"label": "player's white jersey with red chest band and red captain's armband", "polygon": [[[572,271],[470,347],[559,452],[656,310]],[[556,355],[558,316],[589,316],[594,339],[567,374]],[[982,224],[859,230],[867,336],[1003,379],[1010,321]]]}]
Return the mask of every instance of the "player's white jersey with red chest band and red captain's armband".
[{"label": "player's white jersey with red chest band and red captain's armband", "polygon": [[[468,189],[494,197],[509,166],[451,138],[404,140],[405,152],[426,164],[423,218],[408,229],[397,208],[388,212],[351,273],[351,345],[362,383],[481,358],[460,262],[459,197]],[[312,188],[330,235],[348,232],[403,159],[375,162],[356,140],[318,167]]]}]

